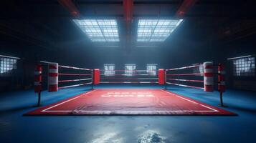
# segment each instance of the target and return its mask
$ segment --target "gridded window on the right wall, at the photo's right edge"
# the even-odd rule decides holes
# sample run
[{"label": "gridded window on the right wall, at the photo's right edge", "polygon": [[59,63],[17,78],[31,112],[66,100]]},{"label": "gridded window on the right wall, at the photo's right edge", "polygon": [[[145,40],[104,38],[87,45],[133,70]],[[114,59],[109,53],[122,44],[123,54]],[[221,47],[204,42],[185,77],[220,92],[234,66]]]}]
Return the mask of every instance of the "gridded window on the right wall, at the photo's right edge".
[{"label": "gridded window on the right wall, at the photo's right edge", "polygon": [[240,77],[255,76],[255,57],[247,57],[233,60],[233,75]]}]

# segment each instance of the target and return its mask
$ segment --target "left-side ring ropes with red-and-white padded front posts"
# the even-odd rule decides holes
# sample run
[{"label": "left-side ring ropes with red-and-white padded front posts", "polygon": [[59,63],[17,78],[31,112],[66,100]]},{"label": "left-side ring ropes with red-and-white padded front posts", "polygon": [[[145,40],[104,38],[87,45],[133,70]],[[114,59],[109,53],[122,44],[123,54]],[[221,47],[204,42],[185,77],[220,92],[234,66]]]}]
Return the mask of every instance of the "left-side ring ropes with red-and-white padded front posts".
[{"label": "left-side ring ropes with red-and-white padded front posts", "polygon": [[[42,68],[47,67],[44,71],[47,74],[42,74]],[[76,71],[77,73],[59,73],[59,69],[69,69]],[[89,72],[89,73],[81,73],[81,72]],[[85,69],[75,66],[63,66],[58,63],[48,62],[48,61],[40,61],[39,64],[35,67],[34,71],[34,92],[38,94],[38,102],[37,106],[39,107],[41,101],[41,92],[42,92],[42,76],[47,76],[47,89],[48,92],[57,92],[58,89],[65,89],[69,87],[78,87],[82,85],[91,84],[93,89],[93,69]],[[75,79],[62,79],[59,77],[72,77]],[[74,84],[75,82],[79,82],[79,84]],[[59,84],[72,84],[66,86],[59,86]]]}]

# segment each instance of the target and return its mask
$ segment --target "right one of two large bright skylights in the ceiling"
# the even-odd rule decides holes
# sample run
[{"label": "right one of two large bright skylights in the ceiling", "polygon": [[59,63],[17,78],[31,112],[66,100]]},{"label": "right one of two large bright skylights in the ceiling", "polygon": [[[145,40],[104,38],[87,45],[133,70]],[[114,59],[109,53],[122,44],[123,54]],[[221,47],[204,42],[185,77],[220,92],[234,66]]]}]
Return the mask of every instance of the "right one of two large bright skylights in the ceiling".
[{"label": "right one of two large bright skylights in the ceiling", "polygon": [[140,19],[138,21],[138,42],[159,42],[165,41],[176,29],[180,20],[168,19]]}]

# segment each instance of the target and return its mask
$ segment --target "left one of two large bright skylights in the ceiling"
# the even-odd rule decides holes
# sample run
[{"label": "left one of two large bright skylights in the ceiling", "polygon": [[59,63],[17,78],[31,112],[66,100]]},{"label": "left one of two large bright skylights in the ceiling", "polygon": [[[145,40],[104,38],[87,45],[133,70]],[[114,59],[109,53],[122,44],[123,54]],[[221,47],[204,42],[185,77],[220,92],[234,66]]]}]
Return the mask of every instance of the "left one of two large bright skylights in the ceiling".
[{"label": "left one of two large bright skylights in the ceiling", "polygon": [[118,24],[114,19],[73,20],[93,42],[118,42]]}]

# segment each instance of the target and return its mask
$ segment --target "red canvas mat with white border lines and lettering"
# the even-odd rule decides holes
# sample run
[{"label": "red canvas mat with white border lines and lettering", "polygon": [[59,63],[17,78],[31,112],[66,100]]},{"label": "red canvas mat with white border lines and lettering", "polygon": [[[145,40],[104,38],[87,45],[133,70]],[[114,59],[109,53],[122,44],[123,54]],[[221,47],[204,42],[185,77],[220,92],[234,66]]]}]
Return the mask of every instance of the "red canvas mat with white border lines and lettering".
[{"label": "red canvas mat with white border lines and lettering", "polygon": [[163,89],[93,89],[25,115],[236,115]]}]

